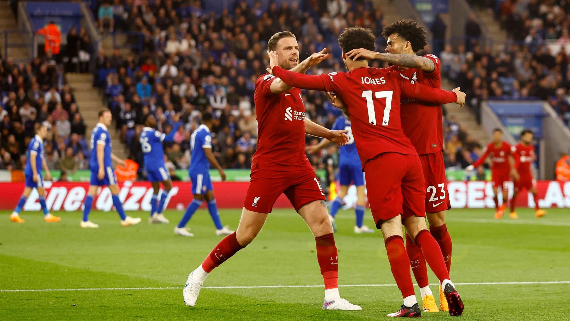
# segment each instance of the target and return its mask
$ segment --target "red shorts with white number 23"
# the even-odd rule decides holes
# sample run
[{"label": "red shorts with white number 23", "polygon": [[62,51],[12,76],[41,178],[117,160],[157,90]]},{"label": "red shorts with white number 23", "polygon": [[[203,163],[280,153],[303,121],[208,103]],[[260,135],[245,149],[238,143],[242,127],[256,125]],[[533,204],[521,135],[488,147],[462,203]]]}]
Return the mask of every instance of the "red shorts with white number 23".
[{"label": "red shorts with white number 23", "polygon": [[447,211],[451,208],[447,192],[447,175],[443,163],[443,152],[420,155],[426,186],[425,203],[427,213]]}]

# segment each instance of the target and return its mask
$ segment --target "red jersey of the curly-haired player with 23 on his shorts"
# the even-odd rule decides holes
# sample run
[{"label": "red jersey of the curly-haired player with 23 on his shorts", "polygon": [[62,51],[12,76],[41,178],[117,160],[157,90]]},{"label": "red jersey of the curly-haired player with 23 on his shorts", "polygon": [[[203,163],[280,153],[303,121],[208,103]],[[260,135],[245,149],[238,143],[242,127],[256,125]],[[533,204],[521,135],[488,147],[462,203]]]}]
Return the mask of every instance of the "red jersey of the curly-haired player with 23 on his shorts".
[{"label": "red jersey of the curly-haired player with 23 on his shorts", "polygon": [[[433,61],[435,69],[425,72],[422,69],[408,68],[400,70],[397,65],[386,69],[397,71],[408,77],[411,81],[417,81],[431,88],[441,88],[441,66],[435,55],[425,55]],[[400,115],[402,117],[402,129],[416,147],[418,154],[431,154],[443,150],[443,114],[441,105],[428,104],[415,99],[402,97],[400,101]]]}]

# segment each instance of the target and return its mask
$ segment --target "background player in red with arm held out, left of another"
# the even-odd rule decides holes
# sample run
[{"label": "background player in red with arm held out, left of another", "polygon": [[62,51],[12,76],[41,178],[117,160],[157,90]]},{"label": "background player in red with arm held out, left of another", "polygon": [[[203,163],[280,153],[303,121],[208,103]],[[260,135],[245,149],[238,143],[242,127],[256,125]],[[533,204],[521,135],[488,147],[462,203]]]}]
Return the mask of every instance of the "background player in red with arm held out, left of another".
[{"label": "background player in red with arm held out, left of another", "polygon": [[[511,182],[511,176],[518,179],[518,173],[515,168],[515,158],[512,157],[511,145],[503,142],[503,131],[499,128],[493,130],[493,141],[483,149],[483,155],[473,164],[465,168],[466,171],[473,171],[477,166],[491,156],[491,175],[493,180],[493,192],[495,193],[495,219],[503,217],[504,210],[507,208],[508,201],[508,183]],[[503,204],[499,207],[499,187],[503,194]],[[516,213],[511,213],[511,219],[518,218]]]}]

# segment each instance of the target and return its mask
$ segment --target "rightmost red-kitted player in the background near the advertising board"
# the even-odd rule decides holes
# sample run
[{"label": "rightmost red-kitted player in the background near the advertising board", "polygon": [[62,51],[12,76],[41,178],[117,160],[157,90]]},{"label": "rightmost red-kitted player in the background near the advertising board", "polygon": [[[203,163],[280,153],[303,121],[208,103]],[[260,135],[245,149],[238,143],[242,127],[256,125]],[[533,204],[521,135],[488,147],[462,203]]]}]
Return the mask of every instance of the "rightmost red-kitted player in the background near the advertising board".
[{"label": "rightmost red-kitted player in the background near the advertising board", "polygon": [[526,188],[532,193],[535,200],[535,215],[543,217],[546,214],[544,209],[538,205],[538,195],[536,194],[536,180],[532,177],[531,163],[536,160],[532,139],[534,133],[530,129],[525,129],[520,133],[520,142],[512,148],[515,157],[516,171],[519,173],[519,180],[515,182],[511,198],[511,217],[518,217],[515,212],[516,197],[519,192]]}]

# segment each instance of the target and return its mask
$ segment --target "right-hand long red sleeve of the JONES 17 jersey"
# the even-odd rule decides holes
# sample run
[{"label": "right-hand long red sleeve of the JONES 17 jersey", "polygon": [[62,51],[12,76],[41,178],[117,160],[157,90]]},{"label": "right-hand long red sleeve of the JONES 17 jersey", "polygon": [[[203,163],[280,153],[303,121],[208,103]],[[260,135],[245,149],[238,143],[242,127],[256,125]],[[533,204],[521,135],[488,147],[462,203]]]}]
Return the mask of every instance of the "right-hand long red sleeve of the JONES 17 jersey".
[{"label": "right-hand long red sleeve of the JONES 17 jersey", "polygon": [[410,81],[407,77],[397,71],[390,71],[390,76],[398,80],[402,96],[429,102],[430,104],[449,104],[457,101],[457,95],[454,92],[439,88],[431,88],[414,81]]}]

